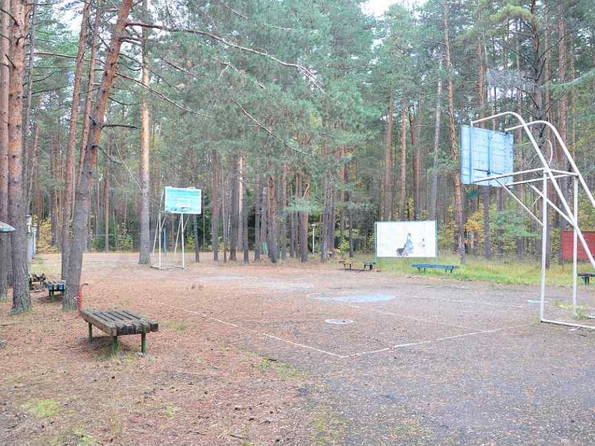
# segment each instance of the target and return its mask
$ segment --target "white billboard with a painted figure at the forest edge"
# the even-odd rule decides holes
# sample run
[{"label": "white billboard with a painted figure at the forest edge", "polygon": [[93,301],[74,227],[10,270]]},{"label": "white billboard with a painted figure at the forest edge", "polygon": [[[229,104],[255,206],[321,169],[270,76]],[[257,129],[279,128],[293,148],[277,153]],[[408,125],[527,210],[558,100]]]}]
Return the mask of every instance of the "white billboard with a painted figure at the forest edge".
[{"label": "white billboard with a painted figure at the forest edge", "polygon": [[376,222],[376,257],[437,257],[436,220]]}]

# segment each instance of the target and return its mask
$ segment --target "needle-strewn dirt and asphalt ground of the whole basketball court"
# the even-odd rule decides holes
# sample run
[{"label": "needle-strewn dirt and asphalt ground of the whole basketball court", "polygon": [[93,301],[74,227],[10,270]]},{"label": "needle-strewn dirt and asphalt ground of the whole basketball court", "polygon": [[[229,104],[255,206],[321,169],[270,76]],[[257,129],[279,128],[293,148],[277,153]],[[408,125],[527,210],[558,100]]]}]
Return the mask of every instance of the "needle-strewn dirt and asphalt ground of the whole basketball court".
[{"label": "needle-strewn dirt and asphalt ground of the whole basketball court", "polygon": [[84,305],[156,319],[145,355],[137,335],[110,357],[43,290],[25,315],[0,303],[0,445],[595,443],[595,332],[539,323],[536,288],[136,259],[86,255]]}]

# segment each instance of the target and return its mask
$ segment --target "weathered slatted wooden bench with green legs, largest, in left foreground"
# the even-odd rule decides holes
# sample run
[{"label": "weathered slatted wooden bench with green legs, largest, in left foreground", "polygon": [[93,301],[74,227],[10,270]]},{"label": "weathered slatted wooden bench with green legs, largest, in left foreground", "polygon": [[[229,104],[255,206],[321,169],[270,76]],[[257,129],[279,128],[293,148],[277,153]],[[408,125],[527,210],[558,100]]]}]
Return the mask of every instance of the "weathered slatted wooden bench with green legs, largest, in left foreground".
[{"label": "weathered slatted wooden bench with green legs, largest, in left foreground", "polygon": [[140,334],[140,351],[147,352],[147,333],[159,331],[156,321],[128,310],[81,310],[81,317],[89,323],[89,342],[93,341],[93,326],[112,337],[112,355],[120,351],[118,336]]}]

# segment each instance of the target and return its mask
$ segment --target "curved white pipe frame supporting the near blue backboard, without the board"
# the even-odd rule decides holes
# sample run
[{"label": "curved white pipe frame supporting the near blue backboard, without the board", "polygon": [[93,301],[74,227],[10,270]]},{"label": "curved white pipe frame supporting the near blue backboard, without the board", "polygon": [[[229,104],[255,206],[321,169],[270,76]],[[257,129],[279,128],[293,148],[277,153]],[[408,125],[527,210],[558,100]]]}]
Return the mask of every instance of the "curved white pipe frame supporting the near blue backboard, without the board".
[{"label": "curved white pipe frame supporting the near blue backboard, without the board", "polygon": [[[574,159],[570,155],[570,151],[568,151],[568,149],[565,145],[565,142],[562,140],[558,130],[556,129],[556,127],[554,127],[554,125],[552,125],[552,123],[548,123],[547,121],[544,121],[544,120],[534,120],[534,121],[531,121],[530,123],[527,123],[527,122],[525,122],[525,120],[522,118],[521,115],[515,113],[514,111],[503,111],[502,113],[494,114],[492,116],[488,116],[487,118],[472,120],[471,125],[470,125],[471,132],[473,131],[474,124],[481,123],[486,120],[494,120],[494,119],[500,118],[501,116],[507,116],[507,115],[514,116],[514,118],[519,120],[520,124],[516,125],[514,127],[508,127],[506,129],[504,129],[504,131],[508,132],[511,130],[523,128],[525,131],[525,134],[528,136],[528,138],[531,142],[531,145],[535,149],[537,156],[539,156],[539,160],[541,161],[541,164],[543,167],[539,167],[536,169],[528,169],[525,171],[512,172],[512,173],[508,173],[508,174],[504,174],[504,175],[489,176],[489,177],[485,177],[485,178],[480,178],[479,180],[476,180],[474,182],[481,183],[481,182],[485,182],[488,180],[495,180],[496,182],[498,182],[498,184],[501,187],[503,187],[503,189],[509,195],[511,195],[512,198],[514,198],[514,200],[517,203],[519,203],[519,205],[526,212],[528,212],[529,215],[531,215],[531,217],[534,220],[536,220],[536,222],[542,228],[541,293],[540,293],[540,300],[539,300],[539,320],[541,322],[546,322],[546,323],[555,323],[555,324],[563,325],[563,326],[581,327],[581,328],[589,328],[589,329],[595,330],[594,326],[586,326],[586,325],[581,325],[580,323],[570,323],[570,322],[556,321],[556,320],[545,318],[545,272],[546,272],[545,261],[546,261],[546,256],[547,256],[546,234],[547,234],[547,225],[548,225],[547,206],[551,206],[552,209],[554,209],[554,211],[559,213],[570,224],[570,226],[572,226],[572,230],[573,230],[572,312],[576,316],[576,293],[578,290],[578,286],[577,286],[577,273],[578,273],[577,257],[578,257],[578,241],[579,240],[581,241],[581,244],[582,244],[583,248],[585,249],[585,253],[587,253],[589,262],[591,262],[591,265],[593,266],[593,268],[595,268],[595,259],[592,255],[591,251],[589,250],[589,246],[587,245],[587,242],[585,241],[585,237],[583,237],[581,228],[578,226],[578,184],[579,183],[581,184],[581,187],[583,187],[583,190],[587,194],[587,197],[589,197],[589,200],[590,200],[592,206],[594,206],[594,207],[595,207],[595,198],[593,197],[593,194],[589,190],[589,187],[587,186],[587,182],[585,182],[585,179],[581,175],[581,171],[579,171],[578,167],[576,167],[576,163],[574,162]],[[532,125],[545,125],[552,130],[552,133],[556,137],[557,142],[559,143],[560,147],[562,148],[563,153],[564,153],[568,163],[570,164],[571,171],[560,171],[560,170],[552,169],[550,167],[549,162],[547,162],[547,160],[545,159],[545,156],[543,156],[543,152],[539,148],[539,145],[537,144],[534,136],[532,135],[532,133],[529,129],[529,127]],[[469,140],[470,140],[470,145],[472,145],[472,143],[473,143],[472,138],[469,138]],[[552,143],[550,142],[550,145],[551,144]],[[470,147],[470,149],[472,149],[472,147]],[[514,177],[514,176],[518,176],[518,175],[521,175],[524,173],[541,173],[541,177],[540,178],[532,178],[530,180],[513,181],[513,182],[510,182],[509,184],[503,184],[501,181],[499,181],[501,178]],[[559,178],[565,178],[565,177],[570,177],[573,179],[573,181],[572,181],[573,182],[572,209],[571,209],[571,206],[568,204],[564,194],[562,193],[560,185],[557,182],[557,180]],[[532,184],[534,182],[541,182],[541,191]],[[554,187],[554,190],[556,191],[556,194],[558,195],[558,198],[560,199],[563,209],[559,209],[558,206],[556,206],[549,198],[547,198],[548,197],[547,187],[548,187],[548,183],[550,183],[550,182],[552,183],[552,186]],[[535,191],[537,193],[539,198],[541,198],[541,200],[543,202],[541,220],[539,219],[539,217],[534,215],[534,213],[530,209],[528,209],[528,207],[525,206],[525,204],[523,204],[522,200],[520,198],[518,198],[514,194],[514,192],[510,189],[510,187],[512,187],[512,186],[520,186],[523,184],[528,184],[528,186],[533,191]]]}]

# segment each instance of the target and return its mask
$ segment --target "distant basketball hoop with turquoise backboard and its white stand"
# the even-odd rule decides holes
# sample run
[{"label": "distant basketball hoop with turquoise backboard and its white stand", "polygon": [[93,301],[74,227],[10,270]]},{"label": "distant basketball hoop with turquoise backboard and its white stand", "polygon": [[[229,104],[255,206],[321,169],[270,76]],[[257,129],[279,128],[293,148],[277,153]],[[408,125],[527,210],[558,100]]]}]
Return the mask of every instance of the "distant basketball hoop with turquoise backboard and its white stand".
[{"label": "distant basketball hoop with turquoise backboard and its white stand", "polygon": [[153,268],[186,269],[186,226],[190,215],[201,213],[201,204],[200,189],[163,189],[151,254]]}]

